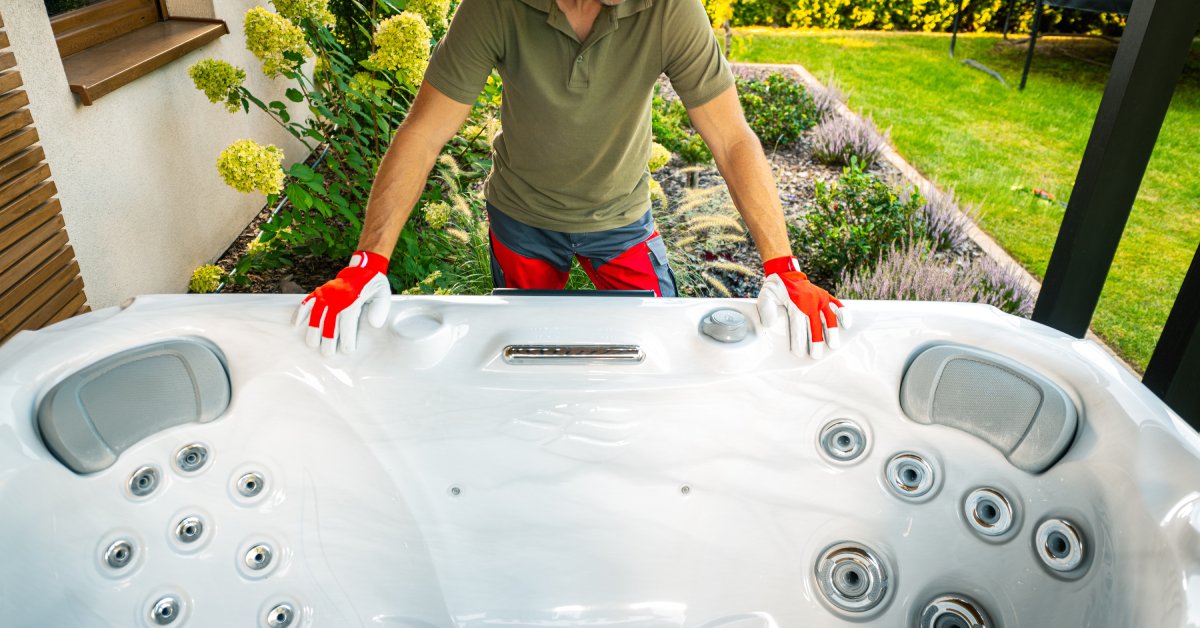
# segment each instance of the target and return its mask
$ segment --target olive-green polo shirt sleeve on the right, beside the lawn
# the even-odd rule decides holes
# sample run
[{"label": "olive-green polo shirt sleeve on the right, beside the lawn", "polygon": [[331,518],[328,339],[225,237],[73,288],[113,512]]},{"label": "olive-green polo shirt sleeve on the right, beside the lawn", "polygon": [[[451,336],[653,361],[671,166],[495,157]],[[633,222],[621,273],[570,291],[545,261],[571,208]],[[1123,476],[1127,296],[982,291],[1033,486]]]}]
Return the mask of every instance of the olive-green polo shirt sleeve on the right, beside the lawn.
[{"label": "olive-green polo shirt sleeve on the right, beside the lawn", "polygon": [[733,85],[733,72],[700,0],[667,0],[667,7],[662,71],[684,107],[700,107]]}]

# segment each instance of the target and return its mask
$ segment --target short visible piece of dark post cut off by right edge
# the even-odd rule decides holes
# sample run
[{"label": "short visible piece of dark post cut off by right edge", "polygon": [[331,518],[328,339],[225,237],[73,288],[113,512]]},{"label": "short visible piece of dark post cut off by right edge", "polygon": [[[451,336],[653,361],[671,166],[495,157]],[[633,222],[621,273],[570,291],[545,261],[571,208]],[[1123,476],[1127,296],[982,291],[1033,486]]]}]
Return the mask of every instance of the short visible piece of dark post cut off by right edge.
[{"label": "short visible piece of dark post cut off by right edge", "polygon": [[1200,249],[1192,258],[1141,383],[1200,430]]}]

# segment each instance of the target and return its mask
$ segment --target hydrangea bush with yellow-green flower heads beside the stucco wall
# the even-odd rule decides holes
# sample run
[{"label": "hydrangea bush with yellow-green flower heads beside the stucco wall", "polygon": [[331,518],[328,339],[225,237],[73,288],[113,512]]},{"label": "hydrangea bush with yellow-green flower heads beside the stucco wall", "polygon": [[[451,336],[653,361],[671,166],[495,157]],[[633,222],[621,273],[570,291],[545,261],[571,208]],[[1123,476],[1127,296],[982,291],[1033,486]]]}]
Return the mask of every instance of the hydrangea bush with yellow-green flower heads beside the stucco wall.
[{"label": "hydrangea bush with yellow-green flower heads beside the stucco wall", "polygon": [[[275,11],[257,6],[244,18],[247,50],[266,77],[289,83],[286,101],[299,103],[304,116],[295,115],[295,104],[257,97],[245,85],[246,71],[228,62],[205,59],[188,68],[211,102],[233,113],[266,113],[317,157],[283,168],[282,150],[251,139],[220,155],[217,172],[232,187],[264,193],[270,205],[286,201],[262,226],[264,246],[230,273],[235,281],[296,257],[348,258],[354,251],[374,174],[415,97],[434,34],[445,31],[450,8],[449,0],[409,0],[407,7],[391,0],[372,0],[370,6],[335,2],[331,8],[329,0],[271,0]],[[359,31],[370,34],[361,54],[348,48],[362,41]],[[424,213],[425,220],[409,221],[392,257],[389,277],[397,292],[450,264],[457,268],[437,274],[434,289],[490,289],[482,199],[469,186],[491,168],[487,146],[500,90],[498,79],[488,80],[469,122],[487,137],[456,137],[438,160],[418,204],[418,219]]]}]

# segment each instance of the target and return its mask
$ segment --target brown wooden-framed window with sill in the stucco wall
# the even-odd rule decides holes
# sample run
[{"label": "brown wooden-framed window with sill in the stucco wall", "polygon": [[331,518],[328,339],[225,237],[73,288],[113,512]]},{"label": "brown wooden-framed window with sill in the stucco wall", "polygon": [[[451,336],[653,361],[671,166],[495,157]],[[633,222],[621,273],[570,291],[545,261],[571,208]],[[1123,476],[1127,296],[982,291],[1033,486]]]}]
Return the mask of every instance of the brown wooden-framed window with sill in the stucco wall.
[{"label": "brown wooden-framed window with sill in the stucco wall", "polygon": [[173,17],[163,0],[44,0],[71,91],[83,104],[229,32]]}]

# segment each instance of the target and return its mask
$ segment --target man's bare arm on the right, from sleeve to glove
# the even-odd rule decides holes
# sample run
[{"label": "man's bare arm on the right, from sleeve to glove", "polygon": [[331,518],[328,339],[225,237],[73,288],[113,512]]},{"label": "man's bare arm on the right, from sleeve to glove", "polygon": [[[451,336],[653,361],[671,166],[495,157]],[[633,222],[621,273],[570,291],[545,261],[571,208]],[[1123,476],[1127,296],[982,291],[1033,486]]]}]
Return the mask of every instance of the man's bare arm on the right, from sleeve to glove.
[{"label": "man's bare arm on the right, from sleeve to glove", "polygon": [[764,262],[791,256],[775,178],[758,136],[742,114],[737,88],[731,86],[704,104],[688,109],[688,115],[712,149],[716,169],[728,185],[733,205],[750,228],[758,255]]}]

